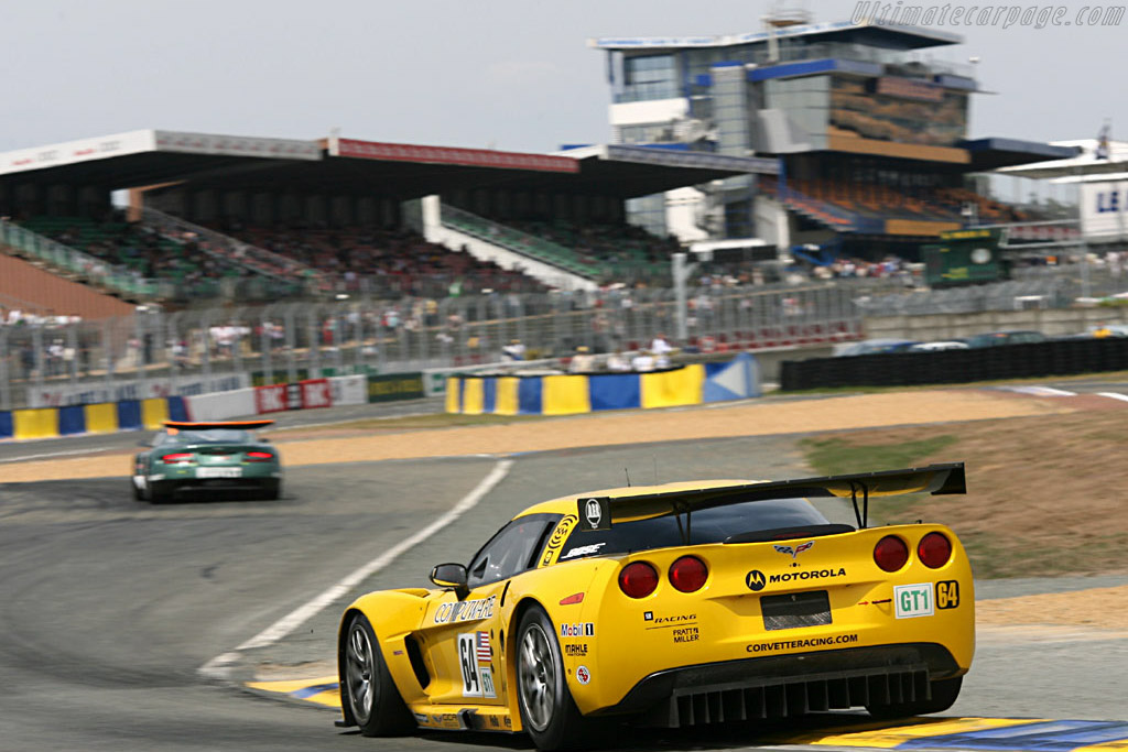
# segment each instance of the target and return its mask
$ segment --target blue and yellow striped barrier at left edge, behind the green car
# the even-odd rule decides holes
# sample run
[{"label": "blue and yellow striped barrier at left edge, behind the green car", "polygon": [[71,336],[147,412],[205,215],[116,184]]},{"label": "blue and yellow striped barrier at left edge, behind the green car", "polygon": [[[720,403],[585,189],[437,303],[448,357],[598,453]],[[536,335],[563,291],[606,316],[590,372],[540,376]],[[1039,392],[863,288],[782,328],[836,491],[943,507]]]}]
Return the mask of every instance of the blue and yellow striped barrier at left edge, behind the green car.
[{"label": "blue and yellow striped barrier at left edge, behind the green car", "polygon": [[113,433],[142,428],[156,431],[165,421],[187,418],[183,397],[36,407],[0,413],[0,439],[58,439],[80,433]]}]

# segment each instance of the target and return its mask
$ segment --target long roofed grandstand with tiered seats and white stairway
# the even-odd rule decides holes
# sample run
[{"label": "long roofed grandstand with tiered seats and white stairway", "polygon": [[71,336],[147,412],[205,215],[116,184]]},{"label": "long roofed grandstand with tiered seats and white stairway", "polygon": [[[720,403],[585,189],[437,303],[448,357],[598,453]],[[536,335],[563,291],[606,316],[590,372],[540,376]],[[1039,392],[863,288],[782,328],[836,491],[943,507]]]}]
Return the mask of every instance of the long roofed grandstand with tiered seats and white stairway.
[{"label": "long roofed grandstand with tiered seats and white stairway", "polygon": [[[673,246],[624,222],[628,198],[775,167],[135,131],[0,154],[0,240],[106,293],[175,306],[591,289],[668,278]],[[115,191],[129,192],[124,216]]]}]

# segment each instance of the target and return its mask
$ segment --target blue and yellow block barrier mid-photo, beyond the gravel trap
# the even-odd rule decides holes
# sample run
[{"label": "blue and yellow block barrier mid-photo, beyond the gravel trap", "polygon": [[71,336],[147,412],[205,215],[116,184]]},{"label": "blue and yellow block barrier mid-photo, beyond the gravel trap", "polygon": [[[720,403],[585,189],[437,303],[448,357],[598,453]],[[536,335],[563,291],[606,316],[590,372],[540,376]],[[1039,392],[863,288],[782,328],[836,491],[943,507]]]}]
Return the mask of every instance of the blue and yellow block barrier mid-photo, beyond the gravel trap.
[{"label": "blue and yellow block barrier mid-photo, beyond the gravel trap", "polygon": [[459,374],[447,380],[447,412],[464,415],[578,415],[759,396],[756,360],[748,354],[651,373]]}]

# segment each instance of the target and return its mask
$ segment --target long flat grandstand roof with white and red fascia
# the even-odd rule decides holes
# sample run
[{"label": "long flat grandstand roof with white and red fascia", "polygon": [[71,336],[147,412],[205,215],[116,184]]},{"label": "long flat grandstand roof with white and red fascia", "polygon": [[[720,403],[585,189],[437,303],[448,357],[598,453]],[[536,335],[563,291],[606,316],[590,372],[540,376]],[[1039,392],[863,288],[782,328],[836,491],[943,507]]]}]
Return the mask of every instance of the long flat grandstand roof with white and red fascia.
[{"label": "long flat grandstand roof with white and red fascia", "polygon": [[0,153],[0,183],[107,191],[185,184],[196,189],[358,192],[395,200],[504,187],[629,198],[747,172],[774,159],[594,147],[567,154],[132,131]]}]

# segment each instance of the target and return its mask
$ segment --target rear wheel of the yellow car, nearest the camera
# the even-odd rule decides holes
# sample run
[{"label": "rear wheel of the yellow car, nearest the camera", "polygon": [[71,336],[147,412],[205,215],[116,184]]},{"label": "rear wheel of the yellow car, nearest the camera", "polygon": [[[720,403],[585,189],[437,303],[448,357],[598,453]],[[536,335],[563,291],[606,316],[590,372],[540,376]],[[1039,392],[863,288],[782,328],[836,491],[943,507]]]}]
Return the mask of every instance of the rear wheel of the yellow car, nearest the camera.
[{"label": "rear wheel of the yellow car, nearest the camera", "polygon": [[572,699],[556,630],[540,607],[521,617],[517,639],[518,705],[532,742],[539,750],[584,746],[591,726]]}]

